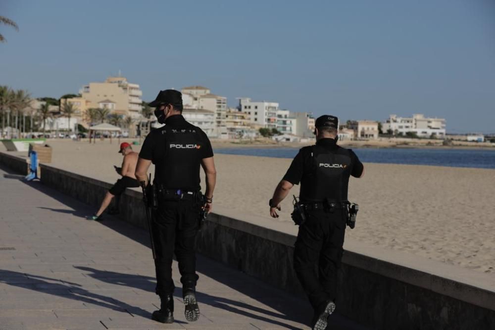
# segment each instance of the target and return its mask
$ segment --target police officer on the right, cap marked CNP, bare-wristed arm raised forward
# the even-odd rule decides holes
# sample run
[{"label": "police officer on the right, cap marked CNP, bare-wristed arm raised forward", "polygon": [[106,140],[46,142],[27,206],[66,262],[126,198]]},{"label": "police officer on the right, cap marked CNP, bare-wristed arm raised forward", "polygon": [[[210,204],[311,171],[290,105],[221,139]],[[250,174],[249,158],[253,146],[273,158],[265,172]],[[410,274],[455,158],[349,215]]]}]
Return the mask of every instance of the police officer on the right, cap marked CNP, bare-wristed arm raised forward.
[{"label": "police officer on the right, cap marked CNP, bare-wristed arm raised forward", "polygon": [[[297,184],[305,222],[299,226],[294,270],[314,309],[311,327],[324,330],[335,310],[347,223],[349,176],[363,176],[356,154],[337,145],[338,119],[321,116],[315,122],[316,145],[303,147],[270,199],[270,215],[278,217],[280,202]],[[318,269],[318,273],[316,273]]]}]

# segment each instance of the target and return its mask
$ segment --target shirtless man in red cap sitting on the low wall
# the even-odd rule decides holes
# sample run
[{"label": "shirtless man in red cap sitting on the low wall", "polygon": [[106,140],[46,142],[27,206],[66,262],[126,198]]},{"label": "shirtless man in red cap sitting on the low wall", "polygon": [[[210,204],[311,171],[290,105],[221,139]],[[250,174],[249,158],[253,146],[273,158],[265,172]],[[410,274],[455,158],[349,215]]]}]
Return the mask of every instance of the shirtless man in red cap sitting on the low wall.
[{"label": "shirtless man in red cap sitting on the low wall", "polygon": [[138,162],[138,153],[132,151],[132,147],[129,143],[123,142],[120,144],[120,153],[124,156],[124,160],[122,161],[122,167],[115,167],[115,170],[119,175],[122,176],[121,179],[117,180],[115,185],[108,190],[103,201],[101,202],[101,206],[99,207],[98,212],[96,212],[93,216],[89,217],[90,220],[103,220],[101,214],[105,211],[105,209],[112,202],[113,197],[117,197],[115,201],[115,207],[110,214],[118,213],[118,205],[120,195],[126,188],[135,188],[139,187],[138,180],[136,180],[136,176],[134,172],[136,171],[136,164]]}]

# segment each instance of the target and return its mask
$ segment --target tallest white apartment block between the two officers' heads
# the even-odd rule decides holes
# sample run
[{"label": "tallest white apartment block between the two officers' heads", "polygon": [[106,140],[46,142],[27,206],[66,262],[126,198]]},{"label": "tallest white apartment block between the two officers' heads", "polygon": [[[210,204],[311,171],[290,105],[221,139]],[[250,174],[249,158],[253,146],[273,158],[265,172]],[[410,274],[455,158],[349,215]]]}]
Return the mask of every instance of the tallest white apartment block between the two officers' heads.
[{"label": "tallest white apartment block between the two officers' heads", "polygon": [[249,97],[239,98],[239,110],[249,115],[252,124],[258,127],[277,128],[277,102],[253,102]]}]

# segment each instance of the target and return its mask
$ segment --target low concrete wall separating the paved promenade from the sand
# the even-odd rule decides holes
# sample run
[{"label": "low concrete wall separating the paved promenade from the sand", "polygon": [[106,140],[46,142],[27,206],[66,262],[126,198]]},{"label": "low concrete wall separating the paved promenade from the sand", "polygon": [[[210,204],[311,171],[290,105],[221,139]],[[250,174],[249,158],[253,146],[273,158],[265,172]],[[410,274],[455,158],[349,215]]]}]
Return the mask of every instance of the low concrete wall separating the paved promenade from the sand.
[{"label": "low concrete wall separating the paved promenade from the sand", "polygon": [[[47,186],[94,206],[111,186],[44,164],[41,175]],[[127,189],[122,201],[121,218],[146,228],[141,194]],[[294,242],[292,234],[221,214],[212,214],[197,238],[201,254],[301,294]],[[339,312],[374,328],[495,329],[495,279],[487,274],[346,242],[339,287]]]}]

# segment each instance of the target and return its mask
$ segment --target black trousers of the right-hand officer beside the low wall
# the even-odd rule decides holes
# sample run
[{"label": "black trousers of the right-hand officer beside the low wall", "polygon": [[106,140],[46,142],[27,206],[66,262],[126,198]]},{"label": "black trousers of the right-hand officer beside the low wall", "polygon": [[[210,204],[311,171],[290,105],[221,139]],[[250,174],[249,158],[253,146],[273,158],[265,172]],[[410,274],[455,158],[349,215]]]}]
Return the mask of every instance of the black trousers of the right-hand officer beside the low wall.
[{"label": "black trousers of the right-hand officer beside the low wall", "polygon": [[299,226],[294,248],[294,270],[313,309],[318,309],[337,295],[337,270],[341,266],[347,214],[309,211]]}]

